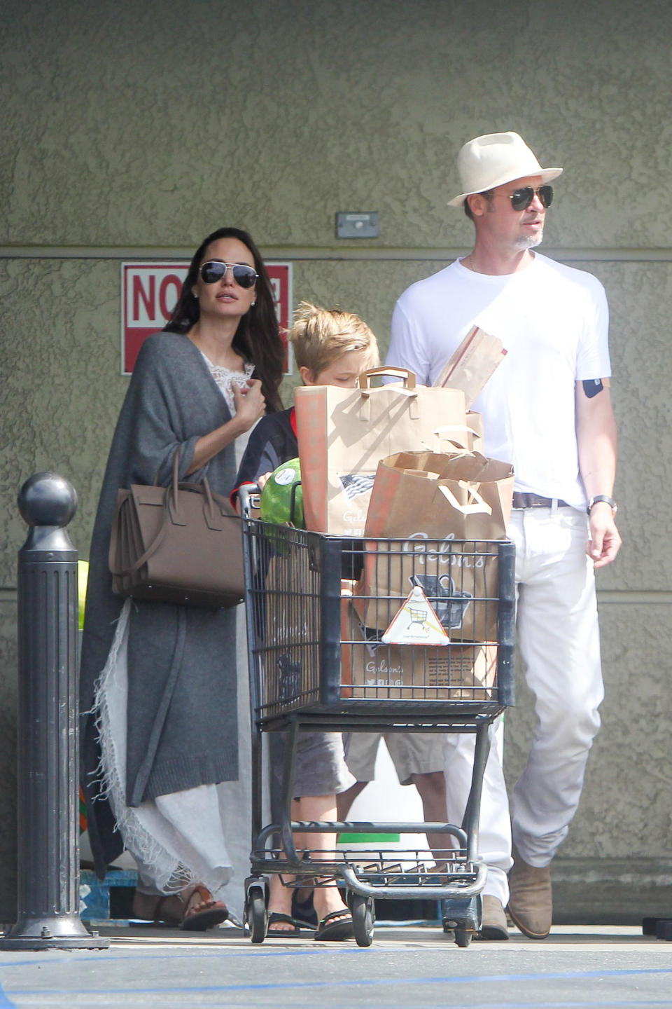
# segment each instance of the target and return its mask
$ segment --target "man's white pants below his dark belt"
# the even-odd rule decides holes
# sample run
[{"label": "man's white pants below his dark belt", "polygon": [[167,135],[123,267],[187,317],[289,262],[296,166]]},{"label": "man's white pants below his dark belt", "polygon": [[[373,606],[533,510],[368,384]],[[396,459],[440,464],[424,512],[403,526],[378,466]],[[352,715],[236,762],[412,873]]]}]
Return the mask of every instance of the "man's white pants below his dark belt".
[{"label": "man's white pants below his dark belt", "polygon": [[[574,509],[515,510],[507,529],[516,544],[516,629],[526,681],[535,695],[536,730],[513,790],[511,818],[500,741],[486,768],[479,855],[489,867],[485,893],[506,906],[511,835],[531,866],[547,866],[576,812],[603,696],[587,522]],[[501,734],[498,734],[501,736]],[[473,736],[444,737],[448,819],[460,823],[474,762]]]}]

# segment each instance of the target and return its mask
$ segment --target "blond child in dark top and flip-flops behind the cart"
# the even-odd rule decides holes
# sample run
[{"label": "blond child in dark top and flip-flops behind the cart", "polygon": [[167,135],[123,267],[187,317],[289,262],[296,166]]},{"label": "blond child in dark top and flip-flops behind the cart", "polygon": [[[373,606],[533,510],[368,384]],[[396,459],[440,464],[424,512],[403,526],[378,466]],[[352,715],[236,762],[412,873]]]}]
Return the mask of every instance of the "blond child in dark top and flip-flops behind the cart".
[{"label": "blond child in dark top and flip-flops behind the cart", "polygon": [[[376,337],[366,323],[350,312],[320,309],[302,302],[289,330],[294,358],[305,385],[340,385],[354,388],[358,376],[378,366]],[[294,409],[263,417],[250,436],[238,471],[236,486],[263,486],[280,463],[298,455]],[[272,748],[273,749],[273,748]],[[277,760],[274,764],[280,763]],[[335,820],[338,793],[355,783],[348,770],[340,733],[301,733],[294,765],[294,787],[299,796],[292,801],[294,820]],[[312,857],[320,852],[328,858],[333,834],[307,835]],[[296,838],[297,848],[299,838]],[[284,887],[278,874],[271,876],[269,936],[296,935],[299,922],[291,916],[292,889]],[[316,939],[347,939],[354,935],[353,918],[335,886],[316,887],[313,903],[319,922]]]}]

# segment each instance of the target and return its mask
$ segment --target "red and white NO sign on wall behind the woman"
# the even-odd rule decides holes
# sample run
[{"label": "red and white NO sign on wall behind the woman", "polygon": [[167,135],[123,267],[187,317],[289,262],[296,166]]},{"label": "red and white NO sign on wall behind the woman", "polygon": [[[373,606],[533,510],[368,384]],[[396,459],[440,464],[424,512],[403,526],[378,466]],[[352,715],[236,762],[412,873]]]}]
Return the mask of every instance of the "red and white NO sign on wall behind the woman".
[{"label": "red and white NO sign on wall behind the woman", "polygon": [[[188,262],[122,262],[121,264],[121,373],[130,375],[143,340],[163,329],[170,318]],[[289,328],[292,304],[292,264],[267,262],[275,314],[281,330]],[[284,339],[284,334],[283,334]],[[285,372],[291,371],[289,359]]]}]

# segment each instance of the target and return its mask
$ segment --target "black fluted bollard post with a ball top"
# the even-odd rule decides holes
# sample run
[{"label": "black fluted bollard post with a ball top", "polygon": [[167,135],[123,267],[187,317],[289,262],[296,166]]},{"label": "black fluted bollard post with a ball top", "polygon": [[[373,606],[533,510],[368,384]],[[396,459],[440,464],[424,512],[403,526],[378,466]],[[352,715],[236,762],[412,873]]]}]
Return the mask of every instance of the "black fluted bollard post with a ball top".
[{"label": "black fluted bollard post with a ball top", "polygon": [[18,506],[18,919],[0,949],[102,949],[80,918],[77,493],[35,473]]}]

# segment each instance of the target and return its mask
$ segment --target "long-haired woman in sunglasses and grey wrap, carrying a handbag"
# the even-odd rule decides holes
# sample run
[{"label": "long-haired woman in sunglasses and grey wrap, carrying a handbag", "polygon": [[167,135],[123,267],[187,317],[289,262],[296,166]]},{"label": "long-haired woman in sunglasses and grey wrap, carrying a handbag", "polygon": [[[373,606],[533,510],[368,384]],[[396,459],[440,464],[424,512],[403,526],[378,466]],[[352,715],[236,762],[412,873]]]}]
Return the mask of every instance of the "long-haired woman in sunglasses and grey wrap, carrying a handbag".
[{"label": "long-haired woman in sunglasses and grey wrap, carrying a handbag", "polygon": [[138,863],[134,915],[185,928],[228,915],[216,783],[239,771],[237,612],[114,595],[111,524],[118,488],[156,475],[167,485],[176,451],[180,479],[207,476],[228,495],[251,428],[282,407],[282,360],[261,256],[246,232],[222,228],[196,250],[165,331],[140,350],[94,528],[81,701],[96,868],[125,846]]}]

